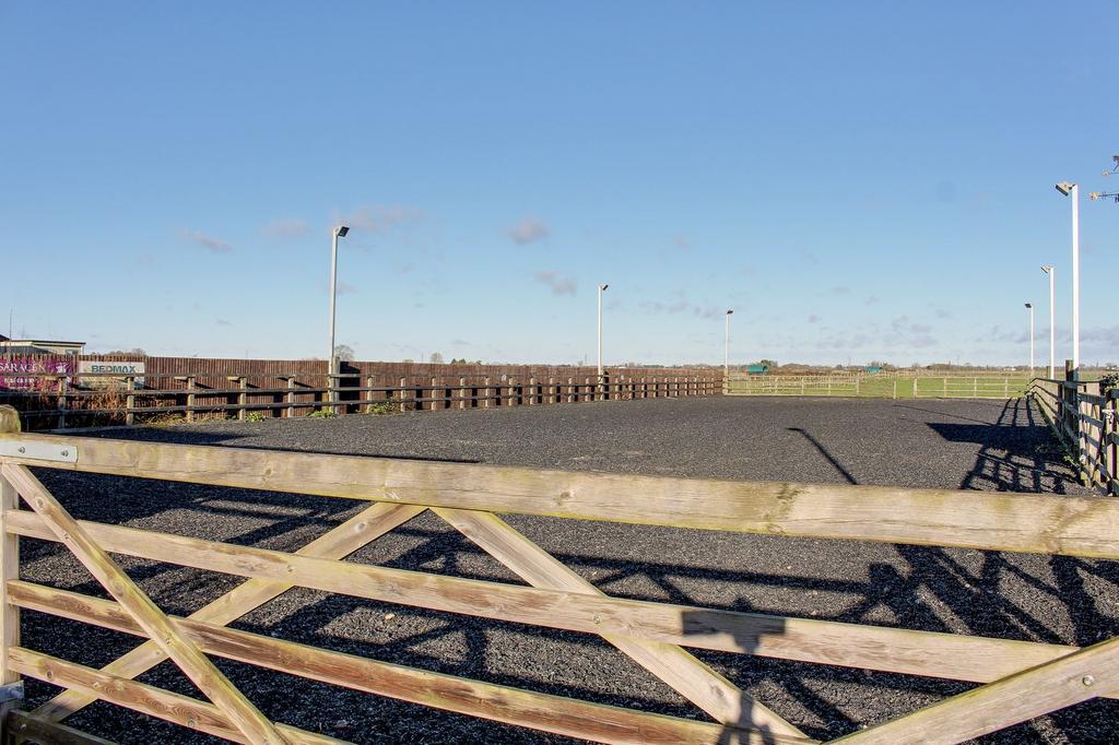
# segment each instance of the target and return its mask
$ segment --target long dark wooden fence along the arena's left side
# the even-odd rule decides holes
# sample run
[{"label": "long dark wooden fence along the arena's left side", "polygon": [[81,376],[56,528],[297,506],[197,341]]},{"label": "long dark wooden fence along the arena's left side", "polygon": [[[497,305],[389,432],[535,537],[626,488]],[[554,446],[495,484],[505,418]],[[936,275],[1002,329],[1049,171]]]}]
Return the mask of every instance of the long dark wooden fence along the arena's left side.
[{"label": "long dark wooden fence along the arena's left side", "polygon": [[331,376],[331,385],[316,387],[294,375],[269,383],[260,374],[228,375],[215,384],[213,377],[149,374],[85,372],[58,375],[23,372],[35,380],[32,389],[0,389],[0,403],[15,405],[32,428],[66,428],[95,424],[135,424],[143,421],[199,417],[238,419],[303,416],[312,412],[331,415],[490,408],[589,400],[632,400],[721,393],[716,375],[633,376],[628,374],[566,376],[537,379],[508,375],[490,378],[427,379],[402,377],[395,385],[375,376],[354,372]]}]

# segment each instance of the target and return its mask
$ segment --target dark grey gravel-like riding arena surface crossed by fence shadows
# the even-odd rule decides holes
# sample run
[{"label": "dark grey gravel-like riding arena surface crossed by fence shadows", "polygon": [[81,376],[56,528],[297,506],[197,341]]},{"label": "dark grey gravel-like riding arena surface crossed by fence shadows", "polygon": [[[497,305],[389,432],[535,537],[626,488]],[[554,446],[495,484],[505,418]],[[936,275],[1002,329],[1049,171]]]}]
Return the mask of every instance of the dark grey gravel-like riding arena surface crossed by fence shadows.
[{"label": "dark grey gravel-like riding arena surface crossed by fence shadows", "polygon": [[[106,433],[105,436],[109,436]],[[739,480],[1087,493],[1022,400],[694,398],[577,406],[220,423],[112,433],[132,438]],[[293,550],[360,506],[271,492],[39,471],[77,516]],[[1064,557],[745,536],[513,517],[602,591],[796,616],[1090,644],[1119,633],[1119,565]],[[54,545],[27,540],[25,578],[102,595]],[[238,581],[121,557],[164,609],[186,614]],[[350,560],[517,582],[424,515]],[[413,667],[651,711],[705,718],[593,638],[297,590],[238,628]],[[25,614],[25,644],[104,664],[132,638]],[[970,688],[949,681],[697,652],[818,738]],[[568,742],[355,694],[237,663],[219,667],[267,715],[356,742]],[[163,663],[141,678],[194,695]],[[31,704],[57,689],[28,683]],[[990,743],[1119,739],[1119,706],[1093,701]],[[68,720],[125,743],[210,742],[96,704]]]}]

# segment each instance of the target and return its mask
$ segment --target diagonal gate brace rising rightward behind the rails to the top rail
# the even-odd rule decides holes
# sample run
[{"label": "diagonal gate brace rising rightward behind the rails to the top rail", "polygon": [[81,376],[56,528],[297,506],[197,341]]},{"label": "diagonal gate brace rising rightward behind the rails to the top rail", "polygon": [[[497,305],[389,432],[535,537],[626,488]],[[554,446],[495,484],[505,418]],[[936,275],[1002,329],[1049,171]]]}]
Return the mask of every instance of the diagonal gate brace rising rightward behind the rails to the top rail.
[{"label": "diagonal gate brace rising rightward behind the rails to the top rail", "polygon": [[[337,528],[319,536],[295,551],[295,554],[328,559],[345,558],[389,530],[407,522],[425,509],[410,504],[372,504]],[[2,539],[2,536],[0,536],[0,539]],[[282,595],[291,590],[291,583],[286,582],[248,579],[243,585],[235,587],[195,613],[191,613],[190,617],[197,621],[225,625]],[[3,590],[0,588],[0,593],[2,592]],[[110,662],[103,668],[103,671],[124,678],[135,678],[166,659],[167,656],[158,644],[147,641],[123,657]],[[92,704],[94,700],[96,699],[85,695],[81,690],[66,690],[35,709],[35,714],[51,720],[59,720]]]}]

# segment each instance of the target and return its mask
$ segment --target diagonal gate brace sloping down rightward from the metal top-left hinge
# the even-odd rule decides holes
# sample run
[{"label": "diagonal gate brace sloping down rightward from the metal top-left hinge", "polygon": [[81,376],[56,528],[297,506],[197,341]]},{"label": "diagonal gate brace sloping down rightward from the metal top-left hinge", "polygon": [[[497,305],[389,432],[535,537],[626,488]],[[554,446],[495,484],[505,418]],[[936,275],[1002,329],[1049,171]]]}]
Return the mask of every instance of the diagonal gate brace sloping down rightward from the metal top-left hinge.
[{"label": "diagonal gate brace sloping down rightward from the metal top-left hinge", "polygon": [[[245,698],[203,652],[176,630],[167,615],[90,537],[66,509],[23,465],[4,464],[8,479],[44,524],[74,554],[90,574],[137,620],[148,636],[229,718],[253,745],[282,745],[272,722]],[[9,510],[11,515],[15,510]]]}]

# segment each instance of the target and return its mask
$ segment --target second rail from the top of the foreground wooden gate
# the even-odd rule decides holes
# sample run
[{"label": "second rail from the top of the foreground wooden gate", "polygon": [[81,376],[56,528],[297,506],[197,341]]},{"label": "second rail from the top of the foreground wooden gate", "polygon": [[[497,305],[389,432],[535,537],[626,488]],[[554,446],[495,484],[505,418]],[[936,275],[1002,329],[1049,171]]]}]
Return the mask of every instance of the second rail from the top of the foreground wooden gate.
[{"label": "second rail from the top of the foreground wooden gate", "polygon": [[[58,540],[41,518],[25,510],[10,512],[8,525],[20,536]],[[498,621],[805,662],[986,682],[1078,650],[1061,644],[599,597],[329,562],[96,522],[81,525],[107,550],[157,562]]]}]

